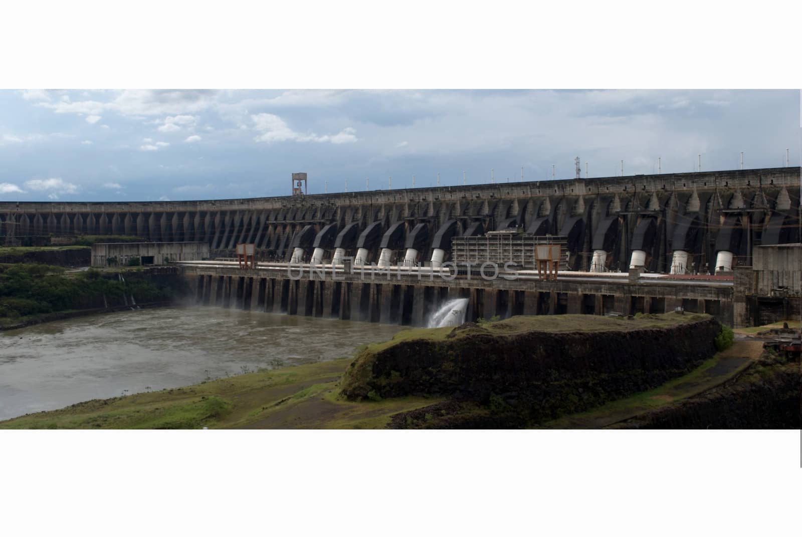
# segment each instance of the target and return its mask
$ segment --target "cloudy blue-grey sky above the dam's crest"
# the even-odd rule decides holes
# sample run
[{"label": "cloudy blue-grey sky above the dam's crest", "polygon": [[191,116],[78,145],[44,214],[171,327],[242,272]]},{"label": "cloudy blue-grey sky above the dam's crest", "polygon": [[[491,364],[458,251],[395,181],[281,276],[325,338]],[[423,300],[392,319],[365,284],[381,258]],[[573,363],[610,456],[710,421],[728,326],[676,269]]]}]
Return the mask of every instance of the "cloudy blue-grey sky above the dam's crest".
[{"label": "cloudy blue-grey sky above the dam's crest", "polygon": [[[793,91],[2,90],[0,201],[189,200],[800,165]],[[492,170],[492,171],[491,171]]]}]

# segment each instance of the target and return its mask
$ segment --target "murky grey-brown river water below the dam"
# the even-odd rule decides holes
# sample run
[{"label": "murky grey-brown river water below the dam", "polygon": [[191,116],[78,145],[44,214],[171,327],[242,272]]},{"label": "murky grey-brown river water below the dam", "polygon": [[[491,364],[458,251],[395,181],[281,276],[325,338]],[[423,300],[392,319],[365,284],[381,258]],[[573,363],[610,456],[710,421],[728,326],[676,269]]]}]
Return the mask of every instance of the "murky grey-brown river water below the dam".
[{"label": "murky grey-brown river water below the dam", "polygon": [[0,420],[257,368],[350,356],[359,345],[388,340],[401,329],[217,307],[165,307],[0,332]]}]

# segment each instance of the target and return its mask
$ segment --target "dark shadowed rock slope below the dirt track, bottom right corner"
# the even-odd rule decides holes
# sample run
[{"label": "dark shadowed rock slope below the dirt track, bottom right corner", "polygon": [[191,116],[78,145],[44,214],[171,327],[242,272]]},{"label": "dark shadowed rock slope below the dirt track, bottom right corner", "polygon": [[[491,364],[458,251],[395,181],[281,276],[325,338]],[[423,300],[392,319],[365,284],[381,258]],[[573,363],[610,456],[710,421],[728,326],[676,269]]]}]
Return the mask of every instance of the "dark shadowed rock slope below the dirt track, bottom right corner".
[{"label": "dark shadowed rock slope below the dirt track, bottom right corner", "polygon": [[757,364],[721,386],[615,425],[617,429],[800,429],[797,364]]}]

